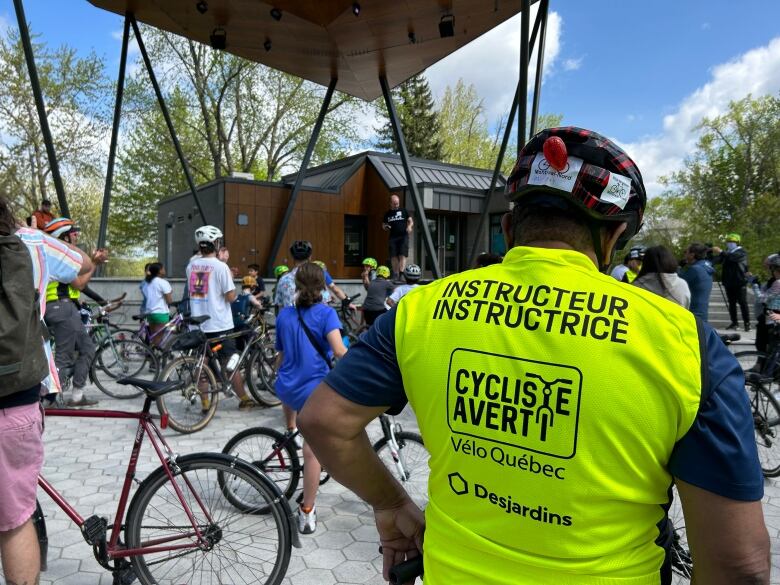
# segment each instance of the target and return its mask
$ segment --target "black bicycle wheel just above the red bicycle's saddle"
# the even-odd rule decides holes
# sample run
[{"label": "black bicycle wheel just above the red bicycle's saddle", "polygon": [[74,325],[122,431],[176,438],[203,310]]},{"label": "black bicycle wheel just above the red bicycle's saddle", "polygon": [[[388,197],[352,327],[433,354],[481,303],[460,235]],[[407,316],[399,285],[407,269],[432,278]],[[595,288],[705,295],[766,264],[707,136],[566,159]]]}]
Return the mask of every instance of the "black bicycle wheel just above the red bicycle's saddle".
[{"label": "black bicycle wheel just above the red bicycle's saddle", "polygon": [[90,379],[112,398],[135,398],[143,394],[135,386],[114,384],[119,378],[154,380],[159,372],[152,349],[135,339],[106,340],[89,366]]}]

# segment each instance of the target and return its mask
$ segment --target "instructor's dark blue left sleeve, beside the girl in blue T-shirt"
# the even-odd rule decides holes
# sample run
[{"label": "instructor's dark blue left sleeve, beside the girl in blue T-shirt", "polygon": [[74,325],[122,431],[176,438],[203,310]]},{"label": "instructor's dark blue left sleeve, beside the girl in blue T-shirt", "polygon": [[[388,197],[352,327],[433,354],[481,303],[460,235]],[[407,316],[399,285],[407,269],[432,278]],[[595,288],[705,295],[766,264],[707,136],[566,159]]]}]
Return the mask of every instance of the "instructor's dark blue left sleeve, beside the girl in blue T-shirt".
[{"label": "instructor's dark blue left sleeve, beside the girl in blue T-shirt", "polygon": [[325,378],[347,400],[388,406],[389,414],[398,414],[407,402],[395,352],[395,312],[393,308],[374,321]]}]

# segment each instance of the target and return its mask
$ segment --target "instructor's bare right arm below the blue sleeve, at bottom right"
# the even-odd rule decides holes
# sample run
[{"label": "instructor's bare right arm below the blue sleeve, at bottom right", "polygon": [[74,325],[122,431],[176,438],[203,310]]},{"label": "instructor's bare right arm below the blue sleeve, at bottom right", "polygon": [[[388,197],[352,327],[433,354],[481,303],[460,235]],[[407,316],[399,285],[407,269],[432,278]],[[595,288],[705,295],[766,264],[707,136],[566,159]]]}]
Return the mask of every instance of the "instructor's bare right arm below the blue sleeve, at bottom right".
[{"label": "instructor's bare right arm below the blue sleeve, at bottom right", "polygon": [[764,585],[771,567],[761,502],[724,498],[676,480],[694,584]]}]

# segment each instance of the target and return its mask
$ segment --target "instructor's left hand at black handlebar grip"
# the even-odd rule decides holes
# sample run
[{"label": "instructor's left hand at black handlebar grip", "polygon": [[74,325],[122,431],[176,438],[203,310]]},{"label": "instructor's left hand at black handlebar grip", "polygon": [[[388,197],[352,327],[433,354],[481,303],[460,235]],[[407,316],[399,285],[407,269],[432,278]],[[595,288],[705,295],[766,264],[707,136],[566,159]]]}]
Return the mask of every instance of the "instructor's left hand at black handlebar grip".
[{"label": "instructor's left hand at black handlebar grip", "polygon": [[425,516],[409,499],[399,506],[374,510],[382,545],[382,576],[390,580],[390,568],[422,554]]}]

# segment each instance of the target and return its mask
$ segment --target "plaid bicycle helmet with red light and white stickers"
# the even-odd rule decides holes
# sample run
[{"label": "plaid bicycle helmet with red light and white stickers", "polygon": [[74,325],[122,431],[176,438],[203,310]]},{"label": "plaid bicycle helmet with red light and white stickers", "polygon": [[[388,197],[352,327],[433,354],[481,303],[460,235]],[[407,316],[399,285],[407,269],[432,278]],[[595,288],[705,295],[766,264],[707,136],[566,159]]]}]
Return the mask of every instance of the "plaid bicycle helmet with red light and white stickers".
[{"label": "plaid bicycle helmet with red light and white stickers", "polygon": [[[542,130],[523,147],[506,185],[515,205],[573,209],[591,227],[599,263],[598,228],[626,222],[615,249],[623,248],[642,227],[647,194],[633,160],[614,142],[583,128]],[[597,241],[598,240],[598,241]]]}]

